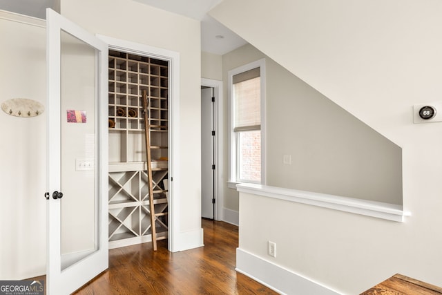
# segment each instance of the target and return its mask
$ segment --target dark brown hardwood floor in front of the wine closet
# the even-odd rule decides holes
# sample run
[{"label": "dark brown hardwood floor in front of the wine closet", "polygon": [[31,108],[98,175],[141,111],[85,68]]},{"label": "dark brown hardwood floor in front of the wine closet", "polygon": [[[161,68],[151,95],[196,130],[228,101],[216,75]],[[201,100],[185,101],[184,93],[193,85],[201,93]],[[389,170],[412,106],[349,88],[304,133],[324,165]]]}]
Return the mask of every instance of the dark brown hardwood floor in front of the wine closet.
[{"label": "dark brown hardwood floor in front of the wine closet", "polygon": [[74,294],[277,294],[235,271],[238,227],[202,220],[204,247],[167,251],[166,240],[111,249],[109,269]]}]

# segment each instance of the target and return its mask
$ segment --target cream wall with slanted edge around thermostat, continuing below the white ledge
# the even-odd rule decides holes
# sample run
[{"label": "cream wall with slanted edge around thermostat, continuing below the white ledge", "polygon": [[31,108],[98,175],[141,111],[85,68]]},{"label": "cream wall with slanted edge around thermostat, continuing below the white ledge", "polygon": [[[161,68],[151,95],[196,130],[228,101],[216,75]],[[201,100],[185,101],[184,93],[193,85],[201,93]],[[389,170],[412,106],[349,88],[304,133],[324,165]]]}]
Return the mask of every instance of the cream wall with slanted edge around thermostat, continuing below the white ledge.
[{"label": "cream wall with slanted edge around thermostat, continuing below the white ledge", "polygon": [[[403,206],[412,213],[404,223],[285,207],[293,216],[273,215],[280,230],[272,238],[288,252],[273,263],[343,294],[395,273],[442,285],[442,123],[412,120],[414,104],[442,100],[441,15],[442,2],[433,0],[224,0],[211,11],[403,152]],[[265,200],[255,206],[278,211]],[[269,259],[269,237],[251,218],[240,227],[260,235],[240,237],[240,248]]]}]

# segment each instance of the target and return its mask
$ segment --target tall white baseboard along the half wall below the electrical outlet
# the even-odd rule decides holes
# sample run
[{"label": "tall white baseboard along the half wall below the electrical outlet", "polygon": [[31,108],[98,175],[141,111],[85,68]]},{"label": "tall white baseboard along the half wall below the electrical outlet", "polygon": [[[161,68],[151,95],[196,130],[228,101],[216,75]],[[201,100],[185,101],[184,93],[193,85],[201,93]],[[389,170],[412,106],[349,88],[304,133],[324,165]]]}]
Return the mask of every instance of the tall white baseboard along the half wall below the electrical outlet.
[{"label": "tall white baseboard along the half wall below the electrical outlet", "polygon": [[279,294],[340,294],[240,248],[236,249],[236,271]]}]

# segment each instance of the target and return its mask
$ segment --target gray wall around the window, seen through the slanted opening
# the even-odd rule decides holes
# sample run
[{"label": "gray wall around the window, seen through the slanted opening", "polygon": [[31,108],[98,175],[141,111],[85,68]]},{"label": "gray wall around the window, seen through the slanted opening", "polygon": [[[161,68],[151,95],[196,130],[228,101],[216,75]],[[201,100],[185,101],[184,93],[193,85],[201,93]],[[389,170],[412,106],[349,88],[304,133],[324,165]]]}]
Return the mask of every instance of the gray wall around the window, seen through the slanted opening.
[{"label": "gray wall around the window, seen through the slanted opening", "polygon": [[[401,148],[251,45],[222,57],[224,110],[229,110],[227,72],[262,57],[267,185],[402,204]],[[228,113],[224,112],[226,139]],[[290,165],[283,164],[284,155],[291,155]],[[224,173],[228,179],[227,169]],[[238,210],[236,191],[227,187],[224,191],[224,207]]]}]

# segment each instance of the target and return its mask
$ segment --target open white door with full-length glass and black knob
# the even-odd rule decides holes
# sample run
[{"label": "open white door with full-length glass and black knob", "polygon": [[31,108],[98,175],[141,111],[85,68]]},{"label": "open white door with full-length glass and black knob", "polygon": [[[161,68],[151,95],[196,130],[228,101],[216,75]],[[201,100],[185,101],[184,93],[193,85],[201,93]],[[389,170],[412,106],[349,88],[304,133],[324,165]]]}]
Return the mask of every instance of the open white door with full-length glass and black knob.
[{"label": "open white door with full-length glass and black knob", "polygon": [[108,268],[108,44],[47,10],[49,295]]}]

